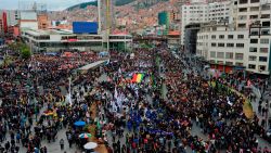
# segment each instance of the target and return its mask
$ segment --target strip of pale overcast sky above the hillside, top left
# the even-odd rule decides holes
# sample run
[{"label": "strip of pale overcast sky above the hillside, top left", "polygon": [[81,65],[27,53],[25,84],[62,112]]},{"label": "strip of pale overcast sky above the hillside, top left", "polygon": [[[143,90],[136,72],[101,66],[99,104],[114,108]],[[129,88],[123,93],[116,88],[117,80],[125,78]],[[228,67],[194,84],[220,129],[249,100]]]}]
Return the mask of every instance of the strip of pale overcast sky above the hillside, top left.
[{"label": "strip of pale overcast sky above the hillside, top left", "polygon": [[0,10],[15,10],[18,8],[28,8],[31,3],[43,3],[48,10],[64,10],[77,3],[94,0],[0,0]]}]

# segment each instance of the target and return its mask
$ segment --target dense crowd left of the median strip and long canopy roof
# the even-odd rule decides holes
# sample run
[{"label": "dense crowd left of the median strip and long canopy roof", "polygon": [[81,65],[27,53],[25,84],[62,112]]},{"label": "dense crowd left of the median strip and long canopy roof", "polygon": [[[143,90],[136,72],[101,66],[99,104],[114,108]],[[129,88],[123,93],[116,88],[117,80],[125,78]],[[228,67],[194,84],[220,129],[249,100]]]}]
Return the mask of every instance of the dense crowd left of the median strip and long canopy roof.
[{"label": "dense crowd left of the median strip and long canopy roof", "polygon": [[[1,152],[18,152],[21,144],[29,153],[47,152],[41,141],[54,142],[63,127],[69,127],[70,145],[75,142],[81,145],[83,142],[77,141],[81,131],[75,129],[74,123],[85,117],[88,106],[81,107],[85,101],[79,103],[74,95],[72,107],[66,103],[64,92],[68,91],[67,78],[73,75],[73,69],[96,60],[98,55],[91,52],[70,56],[36,54],[29,60],[3,65],[0,71]],[[81,92],[79,97],[82,97]],[[72,138],[69,133],[77,137]]]}]

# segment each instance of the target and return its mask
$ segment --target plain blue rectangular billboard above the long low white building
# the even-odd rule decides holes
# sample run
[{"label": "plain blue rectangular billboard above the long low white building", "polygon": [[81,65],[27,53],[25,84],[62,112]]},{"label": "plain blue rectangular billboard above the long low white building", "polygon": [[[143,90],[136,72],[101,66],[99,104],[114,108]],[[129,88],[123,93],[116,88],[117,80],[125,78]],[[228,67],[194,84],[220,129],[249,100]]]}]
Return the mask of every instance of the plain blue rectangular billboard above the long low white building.
[{"label": "plain blue rectangular billboard above the long low white building", "polygon": [[73,23],[74,34],[98,34],[96,22],[74,22]]}]

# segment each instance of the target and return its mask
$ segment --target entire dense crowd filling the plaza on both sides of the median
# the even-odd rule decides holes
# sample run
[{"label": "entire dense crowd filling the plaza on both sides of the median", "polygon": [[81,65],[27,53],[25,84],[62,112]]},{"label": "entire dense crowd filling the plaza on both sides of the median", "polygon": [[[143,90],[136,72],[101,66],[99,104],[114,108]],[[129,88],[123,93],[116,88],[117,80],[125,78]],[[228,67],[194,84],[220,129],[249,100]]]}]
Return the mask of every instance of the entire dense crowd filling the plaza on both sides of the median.
[{"label": "entire dense crowd filling the plaza on both sides of the median", "polygon": [[[82,149],[87,141],[78,136],[88,129],[76,127],[78,120],[95,124],[95,136],[114,153],[185,153],[188,148],[199,153],[270,152],[258,146],[256,135],[263,129],[257,116],[246,118],[244,97],[220,86],[227,78],[206,80],[195,71],[184,73],[192,63],[163,47],[138,49],[134,55],[111,52],[107,65],[74,78],[67,100],[62,88],[68,90],[73,69],[96,60],[87,54],[38,54],[1,69],[1,152],[18,152],[22,143],[29,153],[47,153],[42,140],[55,142],[62,128],[69,148]],[[138,74],[142,77],[134,81]],[[207,138],[195,135],[193,126]]]}]

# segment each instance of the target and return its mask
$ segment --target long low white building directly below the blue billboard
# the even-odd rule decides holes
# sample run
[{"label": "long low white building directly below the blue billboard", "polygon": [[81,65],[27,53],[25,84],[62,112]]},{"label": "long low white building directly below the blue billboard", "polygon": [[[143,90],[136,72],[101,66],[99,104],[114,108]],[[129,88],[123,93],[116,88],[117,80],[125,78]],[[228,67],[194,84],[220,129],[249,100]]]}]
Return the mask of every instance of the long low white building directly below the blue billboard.
[{"label": "long low white building directly below the blue billboard", "polygon": [[57,52],[65,49],[77,49],[79,51],[102,51],[106,43],[111,49],[120,46],[125,48],[130,44],[130,35],[109,35],[109,39],[104,39],[103,35],[73,34],[64,29],[25,29],[22,38],[28,43],[33,52]]}]

